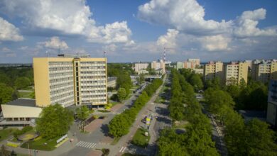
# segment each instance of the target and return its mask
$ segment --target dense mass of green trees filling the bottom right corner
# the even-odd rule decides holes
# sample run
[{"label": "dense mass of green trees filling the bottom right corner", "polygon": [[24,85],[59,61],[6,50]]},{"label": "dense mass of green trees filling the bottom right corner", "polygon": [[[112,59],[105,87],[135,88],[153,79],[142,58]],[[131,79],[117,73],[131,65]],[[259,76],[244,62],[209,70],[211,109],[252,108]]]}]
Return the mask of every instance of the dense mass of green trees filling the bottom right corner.
[{"label": "dense mass of green trees filling the bottom right corner", "polygon": [[[248,87],[252,88],[252,85],[254,84],[239,89],[245,91]],[[258,119],[244,122],[244,118],[234,111],[236,105],[232,96],[237,97],[239,93],[234,91],[237,89],[237,86],[233,85],[224,89],[210,87],[204,93],[208,110],[214,113],[224,126],[224,140],[229,155],[276,155],[276,133],[268,128],[268,124]],[[261,98],[261,95],[259,97]],[[247,100],[248,96],[244,98]]]}]

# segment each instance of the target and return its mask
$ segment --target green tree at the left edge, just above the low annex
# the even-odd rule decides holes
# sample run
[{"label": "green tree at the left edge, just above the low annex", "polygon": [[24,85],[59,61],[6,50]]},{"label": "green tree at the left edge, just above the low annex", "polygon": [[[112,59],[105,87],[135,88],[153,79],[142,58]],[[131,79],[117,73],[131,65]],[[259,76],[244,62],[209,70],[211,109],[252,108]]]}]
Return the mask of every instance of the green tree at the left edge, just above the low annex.
[{"label": "green tree at the left edge, just above the low annex", "polygon": [[13,88],[0,83],[0,104],[6,104],[13,99]]}]

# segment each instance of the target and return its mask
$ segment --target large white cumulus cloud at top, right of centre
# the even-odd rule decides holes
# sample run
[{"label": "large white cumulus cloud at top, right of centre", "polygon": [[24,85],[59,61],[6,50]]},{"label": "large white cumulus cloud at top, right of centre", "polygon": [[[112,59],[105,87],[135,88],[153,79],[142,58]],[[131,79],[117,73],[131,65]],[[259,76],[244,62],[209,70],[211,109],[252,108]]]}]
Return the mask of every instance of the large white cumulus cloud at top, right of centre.
[{"label": "large white cumulus cloud at top, right of centre", "polygon": [[232,21],[205,20],[205,9],[196,0],[151,0],[139,6],[138,17],[149,23],[161,23],[186,33],[225,32]]}]

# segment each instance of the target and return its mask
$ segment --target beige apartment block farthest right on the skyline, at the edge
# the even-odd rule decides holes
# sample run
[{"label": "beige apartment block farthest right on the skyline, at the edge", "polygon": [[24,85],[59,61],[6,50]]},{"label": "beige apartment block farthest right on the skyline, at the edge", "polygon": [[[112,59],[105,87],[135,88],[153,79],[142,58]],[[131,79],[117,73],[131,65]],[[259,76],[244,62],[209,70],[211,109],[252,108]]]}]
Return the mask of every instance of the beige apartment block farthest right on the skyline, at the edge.
[{"label": "beige apartment block farthest right on the skyline, at the edge", "polygon": [[255,60],[252,64],[251,77],[264,83],[270,79],[277,79],[277,60]]}]

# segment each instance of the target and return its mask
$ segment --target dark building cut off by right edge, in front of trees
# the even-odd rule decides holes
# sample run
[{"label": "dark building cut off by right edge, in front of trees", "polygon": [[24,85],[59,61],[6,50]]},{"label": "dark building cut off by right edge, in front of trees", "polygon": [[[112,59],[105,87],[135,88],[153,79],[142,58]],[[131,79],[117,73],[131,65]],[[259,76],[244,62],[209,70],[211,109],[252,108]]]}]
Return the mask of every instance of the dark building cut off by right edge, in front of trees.
[{"label": "dark building cut off by right edge, in front of trees", "polygon": [[271,79],[268,87],[268,105],[266,121],[277,126],[277,80]]}]

